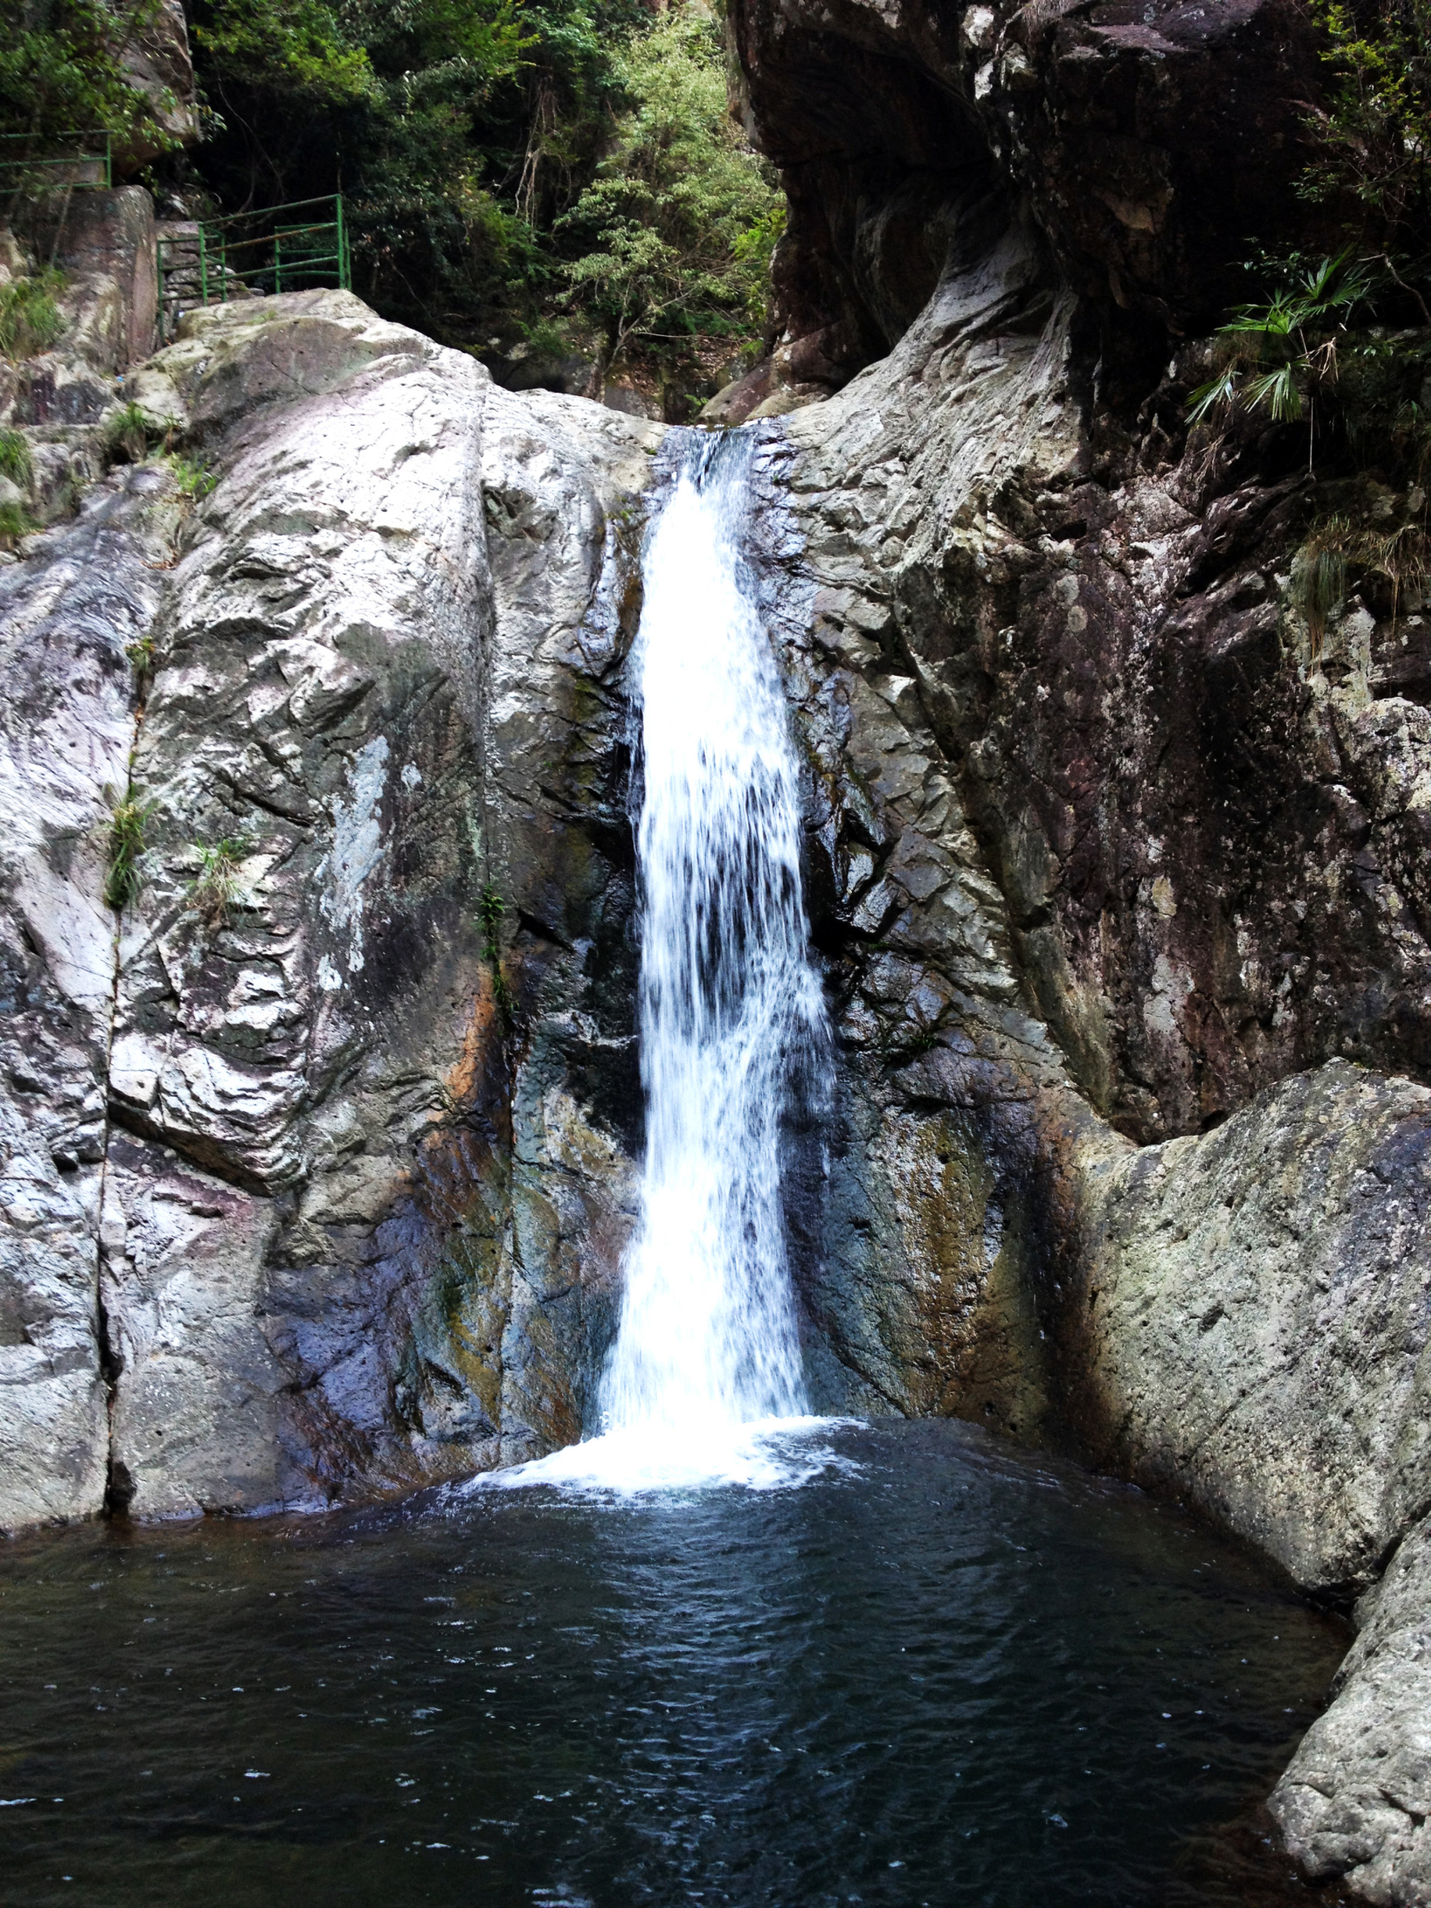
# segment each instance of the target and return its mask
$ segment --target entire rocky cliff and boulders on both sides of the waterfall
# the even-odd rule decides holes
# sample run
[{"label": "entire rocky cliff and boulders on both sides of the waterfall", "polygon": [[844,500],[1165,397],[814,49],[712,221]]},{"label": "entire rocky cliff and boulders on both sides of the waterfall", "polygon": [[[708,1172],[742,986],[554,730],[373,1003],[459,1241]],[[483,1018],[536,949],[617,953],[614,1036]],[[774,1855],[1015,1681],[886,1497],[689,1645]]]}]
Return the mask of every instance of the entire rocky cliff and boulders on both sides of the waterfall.
[{"label": "entire rocky cliff and boulders on both sides of the waterfall", "polygon": [[[1248,233],[1297,218],[1305,25],[729,25],[792,206],[784,336],[721,414],[763,410],[838,1034],[788,1135],[815,1402],[1072,1437],[1360,1599],[1273,1811],[1423,1904],[1431,637],[1353,601],[1313,645],[1305,446],[1179,422]],[[38,389],[4,393],[36,462],[93,466],[93,404]],[[338,292],[191,313],[124,391],[219,483],[93,466],[0,569],[0,1517],[569,1442],[641,1151],[662,427]]]}]

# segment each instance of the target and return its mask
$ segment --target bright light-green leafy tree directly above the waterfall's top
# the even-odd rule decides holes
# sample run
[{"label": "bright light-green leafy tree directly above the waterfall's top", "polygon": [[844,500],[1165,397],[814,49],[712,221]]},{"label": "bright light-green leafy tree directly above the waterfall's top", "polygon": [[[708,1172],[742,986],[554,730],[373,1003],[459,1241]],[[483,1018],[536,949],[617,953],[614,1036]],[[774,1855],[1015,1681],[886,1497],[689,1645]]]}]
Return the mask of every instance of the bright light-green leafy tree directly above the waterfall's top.
[{"label": "bright light-green leafy tree directly above the waterfall's top", "polygon": [[727,113],[719,32],[668,13],[618,63],[632,99],[612,151],[557,229],[582,240],[569,298],[635,340],[750,334],[780,198]]}]

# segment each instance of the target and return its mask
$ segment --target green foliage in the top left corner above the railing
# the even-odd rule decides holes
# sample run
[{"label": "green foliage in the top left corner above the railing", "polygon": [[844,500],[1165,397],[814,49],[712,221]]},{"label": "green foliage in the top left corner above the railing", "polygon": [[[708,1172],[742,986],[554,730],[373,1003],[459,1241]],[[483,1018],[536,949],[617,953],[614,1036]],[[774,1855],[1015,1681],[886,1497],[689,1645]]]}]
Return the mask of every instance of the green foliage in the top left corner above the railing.
[{"label": "green foliage in the top left corner above the railing", "polygon": [[[162,0],[27,0],[0,40],[0,132],[8,160],[74,149],[74,132],[105,130],[116,143],[174,147],[149,99],[130,82],[126,50],[156,19]],[[46,172],[0,174],[0,193],[42,187]]]}]

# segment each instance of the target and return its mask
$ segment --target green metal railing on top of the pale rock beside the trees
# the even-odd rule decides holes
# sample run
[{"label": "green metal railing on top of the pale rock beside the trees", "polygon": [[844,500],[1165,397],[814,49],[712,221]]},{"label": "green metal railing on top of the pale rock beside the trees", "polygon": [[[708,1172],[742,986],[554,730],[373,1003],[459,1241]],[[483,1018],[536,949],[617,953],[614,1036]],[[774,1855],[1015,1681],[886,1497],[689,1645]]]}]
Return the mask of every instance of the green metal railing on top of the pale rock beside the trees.
[{"label": "green metal railing on top of the pale rock beside the trees", "polygon": [[[322,212],[332,216],[322,218]],[[179,300],[212,305],[227,303],[235,286],[300,292],[334,282],[343,292],[353,286],[342,193],[198,219],[193,233],[166,235],[158,242],[160,342],[168,328],[168,305]]]}]

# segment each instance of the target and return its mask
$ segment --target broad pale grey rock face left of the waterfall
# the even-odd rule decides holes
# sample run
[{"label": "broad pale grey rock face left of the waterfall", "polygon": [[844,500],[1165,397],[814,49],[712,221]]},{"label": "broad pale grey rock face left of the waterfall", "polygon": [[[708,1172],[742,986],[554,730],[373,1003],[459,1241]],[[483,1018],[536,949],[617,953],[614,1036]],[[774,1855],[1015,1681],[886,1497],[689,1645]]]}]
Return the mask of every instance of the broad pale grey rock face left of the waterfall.
[{"label": "broad pale grey rock face left of the waterfall", "polygon": [[193,315],[135,389],[218,488],[116,473],[0,572],[8,1439],[53,1439],[10,1524],[574,1437],[639,1145],[614,675],[658,429],[345,294]]}]

